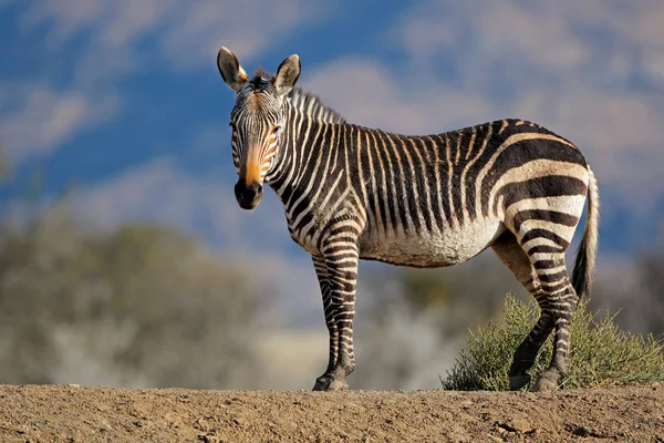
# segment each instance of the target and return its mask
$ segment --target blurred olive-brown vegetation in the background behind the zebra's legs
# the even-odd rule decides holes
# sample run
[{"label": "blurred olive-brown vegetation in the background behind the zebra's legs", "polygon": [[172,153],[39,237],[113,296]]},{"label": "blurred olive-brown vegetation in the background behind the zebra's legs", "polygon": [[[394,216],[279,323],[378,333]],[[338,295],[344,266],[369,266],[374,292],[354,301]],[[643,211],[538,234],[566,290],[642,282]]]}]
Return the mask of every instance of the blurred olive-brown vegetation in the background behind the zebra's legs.
[{"label": "blurred olive-brown vegetation in the background behind the zebra's legs", "polygon": [[[70,195],[0,223],[0,382],[310,388],[325,363],[322,317],[291,329],[246,258],[169,226],[95,229]],[[625,308],[623,328],[664,332],[663,250],[600,269],[593,309]],[[436,387],[468,330],[500,322],[506,292],[527,297],[490,251],[438,270],[363,265],[361,276],[353,388]]]}]

